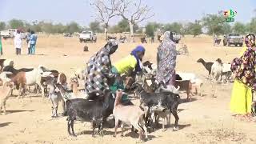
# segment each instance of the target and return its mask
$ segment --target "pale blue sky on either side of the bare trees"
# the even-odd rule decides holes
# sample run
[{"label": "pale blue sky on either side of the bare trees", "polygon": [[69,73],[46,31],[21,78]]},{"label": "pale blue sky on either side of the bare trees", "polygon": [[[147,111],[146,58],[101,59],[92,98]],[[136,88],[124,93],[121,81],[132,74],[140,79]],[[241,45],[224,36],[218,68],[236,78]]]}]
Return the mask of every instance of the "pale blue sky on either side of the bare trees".
[{"label": "pale blue sky on either side of the bare trees", "polygon": [[[218,14],[219,10],[236,10],[235,21],[250,22],[256,17],[256,0],[144,0],[152,7],[154,18],[146,22],[194,22],[203,14]],[[18,18],[32,22],[78,22],[87,26],[94,21],[90,0],[0,0],[0,21]],[[118,19],[110,20],[114,25]],[[143,25],[142,22],[140,25]]]}]

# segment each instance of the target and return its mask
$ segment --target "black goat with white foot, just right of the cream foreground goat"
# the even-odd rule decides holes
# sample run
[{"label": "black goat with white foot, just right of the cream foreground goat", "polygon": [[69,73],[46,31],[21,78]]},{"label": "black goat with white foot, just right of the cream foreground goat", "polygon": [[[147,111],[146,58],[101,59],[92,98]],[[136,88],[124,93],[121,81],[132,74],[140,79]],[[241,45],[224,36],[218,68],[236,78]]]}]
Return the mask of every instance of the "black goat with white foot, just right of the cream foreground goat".
[{"label": "black goat with white foot, just right of the cream foreground goat", "polygon": [[145,105],[149,107],[149,110],[153,106],[159,106],[159,102],[161,106],[166,107],[170,110],[170,112],[174,115],[175,124],[174,130],[178,130],[178,114],[177,108],[178,104],[180,103],[180,96],[178,94],[174,94],[170,91],[164,91],[160,93],[147,93],[143,90],[140,84],[136,84],[138,86],[139,94],[141,97],[141,105]]}]

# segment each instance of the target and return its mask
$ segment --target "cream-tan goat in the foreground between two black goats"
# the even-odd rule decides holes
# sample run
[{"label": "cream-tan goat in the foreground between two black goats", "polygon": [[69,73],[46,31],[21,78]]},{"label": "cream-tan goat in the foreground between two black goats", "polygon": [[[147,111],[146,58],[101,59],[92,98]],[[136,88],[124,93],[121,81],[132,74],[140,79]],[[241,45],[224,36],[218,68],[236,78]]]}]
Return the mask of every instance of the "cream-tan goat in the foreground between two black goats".
[{"label": "cream-tan goat in the foreground between two black goats", "polygon": [[144,122],[144,116],[146,114],[146,111],[143,111],[139,106],[123,106],[121,103],[122,99],[122,91],[117,90],[116,92],[116,98],[114,102],[114,120],[115,120],[115,126],[114,126],[114,137],[117,135],[117,129],[118,129],[118,122],[121,121],[121,129],[122,133],[121,136],[123,136],[123,126],[124,124],[132,125],[136,130],[139,132],[138,142],[142,142],[142,131],[145,131],[146,134],[146,140],[148,139],[147,130]]}]

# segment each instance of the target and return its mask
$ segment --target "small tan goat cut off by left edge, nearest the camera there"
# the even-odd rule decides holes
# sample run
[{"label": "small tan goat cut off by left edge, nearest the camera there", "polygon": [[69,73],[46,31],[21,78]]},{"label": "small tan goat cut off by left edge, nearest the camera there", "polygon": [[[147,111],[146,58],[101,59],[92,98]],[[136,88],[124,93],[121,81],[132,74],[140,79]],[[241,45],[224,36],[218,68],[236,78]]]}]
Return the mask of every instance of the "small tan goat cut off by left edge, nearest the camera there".
[{"label": "small tan goat cut off by left edge, nearest the camera there", "polygon": [[0,114],[3,108],[3,114],[6,114],[6,100],[9,98],[11,90],[14,88],[13,82],[5,82],[0,86]]}]

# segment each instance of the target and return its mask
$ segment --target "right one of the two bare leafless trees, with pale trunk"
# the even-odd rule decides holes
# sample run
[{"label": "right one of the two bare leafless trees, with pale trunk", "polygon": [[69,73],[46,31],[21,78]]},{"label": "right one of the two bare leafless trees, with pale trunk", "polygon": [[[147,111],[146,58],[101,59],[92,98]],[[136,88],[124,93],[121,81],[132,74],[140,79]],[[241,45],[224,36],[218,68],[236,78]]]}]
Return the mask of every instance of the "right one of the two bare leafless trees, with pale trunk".
[{"label": "right one of the two bare leafless trees, with pale trunk", "polygon": [[154,16],[151,8],[142,4],[142,0],[119,0],[118,11],[120,16],[129,22],[132,38],[134,37],[134,25]]}]

